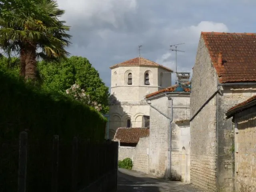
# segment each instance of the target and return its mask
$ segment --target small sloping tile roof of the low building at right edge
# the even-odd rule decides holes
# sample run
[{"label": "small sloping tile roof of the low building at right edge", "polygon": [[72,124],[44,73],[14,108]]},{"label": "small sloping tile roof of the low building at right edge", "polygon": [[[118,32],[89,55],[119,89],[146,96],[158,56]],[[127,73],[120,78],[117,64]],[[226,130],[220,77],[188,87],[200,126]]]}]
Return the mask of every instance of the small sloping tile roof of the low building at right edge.
[{"label": "small sloping tile roof of the low building at right edge", "polygon": [[244,102],[241,102],[241,103],[233,106],[232,108],[230,108],[226,112],[226,116],[227,116],[227,118],[230,118],[236,112],[239,112],[242,109],[246,109],[252,105],[256,105],[256,95],[254,95],[254,96],[250,97],[249,99],[245,100]]}]

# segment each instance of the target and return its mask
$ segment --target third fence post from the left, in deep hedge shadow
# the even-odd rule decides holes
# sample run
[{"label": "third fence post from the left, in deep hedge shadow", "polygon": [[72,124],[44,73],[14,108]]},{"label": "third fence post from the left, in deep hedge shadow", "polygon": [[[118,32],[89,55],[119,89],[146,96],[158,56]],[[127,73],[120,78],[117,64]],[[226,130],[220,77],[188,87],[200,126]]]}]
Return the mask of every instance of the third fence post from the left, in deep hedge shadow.
[{"label": "third fence post from the left, in deep hedge shadow", "polygon": [[76,192],[77,181],[76,181],[76,170],[77,170],[77,154],[78,154],[78,142],[77,137],[73,138],[72,148],[72,192]]}]

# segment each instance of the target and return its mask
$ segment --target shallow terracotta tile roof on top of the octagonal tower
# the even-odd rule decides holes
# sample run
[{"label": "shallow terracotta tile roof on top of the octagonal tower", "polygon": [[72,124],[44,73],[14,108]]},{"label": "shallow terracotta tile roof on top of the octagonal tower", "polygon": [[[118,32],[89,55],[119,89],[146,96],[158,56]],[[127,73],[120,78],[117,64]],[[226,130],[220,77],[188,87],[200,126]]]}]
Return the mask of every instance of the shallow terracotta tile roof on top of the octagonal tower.
[{"label": "shallow terracotta tile roof on top of the octagonal tower", "polygon": [[148,59],[142,58],[142,57],[137,57],[137,58],[133,58],[130,59],[128,61],[119,63],[119,64],[115,64],[113,66],[110,67],[110,69],[114,69],[116,67],[119,66],[146,66],[146,67],[160,67],[163,68],[169,72],[173,72],[173,70],[171,70],[170,68],[167,68],[165,66],[162,66],[160,64],[157,64],[156,62],[150,61]]}]

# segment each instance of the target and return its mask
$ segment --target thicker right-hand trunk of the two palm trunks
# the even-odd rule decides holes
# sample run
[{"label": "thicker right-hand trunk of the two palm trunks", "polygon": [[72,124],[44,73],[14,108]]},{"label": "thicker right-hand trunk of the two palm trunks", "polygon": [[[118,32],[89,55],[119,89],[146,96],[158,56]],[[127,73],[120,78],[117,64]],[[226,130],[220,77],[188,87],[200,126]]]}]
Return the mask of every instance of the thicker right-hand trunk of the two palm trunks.
[{"label": "thicker right-hand trunk of the two palm trunks", "polygon": [[36,46],[30,43],[25,51],[25,80],[36,81]]}]

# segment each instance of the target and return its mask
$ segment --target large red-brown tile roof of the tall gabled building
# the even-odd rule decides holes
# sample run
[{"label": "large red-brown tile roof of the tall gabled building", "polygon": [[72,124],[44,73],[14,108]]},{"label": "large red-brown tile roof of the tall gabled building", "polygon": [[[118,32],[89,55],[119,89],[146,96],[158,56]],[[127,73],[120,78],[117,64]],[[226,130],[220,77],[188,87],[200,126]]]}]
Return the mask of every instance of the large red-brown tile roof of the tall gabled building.
[{"label": "large red-brown tile roof of the tall gabled building", "polygon": [[[256,82],[256,34],[201,32],[220,83]],[[218,66],[218,53],[222,65]]]}]

